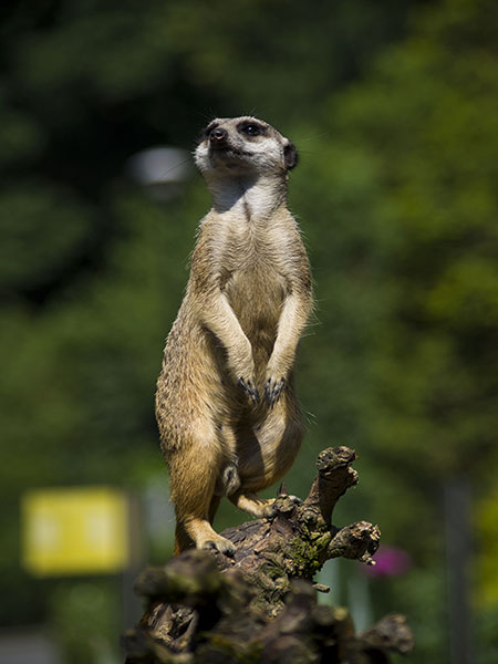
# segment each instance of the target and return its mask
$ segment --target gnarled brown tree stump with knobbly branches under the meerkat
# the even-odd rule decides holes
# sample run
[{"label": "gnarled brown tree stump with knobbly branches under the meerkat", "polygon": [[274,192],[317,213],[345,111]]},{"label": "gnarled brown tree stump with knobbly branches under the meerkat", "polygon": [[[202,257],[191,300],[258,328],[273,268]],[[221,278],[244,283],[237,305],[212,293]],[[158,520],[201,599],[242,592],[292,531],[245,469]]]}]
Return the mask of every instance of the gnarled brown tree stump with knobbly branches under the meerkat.
[{"label": "gnarled brown tree stump with knobbly branches under the meerkat", "polygon": [[314,574],[331,558],[374,564],[380,529],[367,521],[336,528],[339,498],[357,483],[355,453],[334,447],[318,457],[304,502],[282,486],[274,517],[229,528],[229,558],[191,549],[136,582],[147,610],[124,635],[126,664],[370,664],[388,651],[408,653],[413,637],[401,615],[355,634],[345,609],[317,603]]}]

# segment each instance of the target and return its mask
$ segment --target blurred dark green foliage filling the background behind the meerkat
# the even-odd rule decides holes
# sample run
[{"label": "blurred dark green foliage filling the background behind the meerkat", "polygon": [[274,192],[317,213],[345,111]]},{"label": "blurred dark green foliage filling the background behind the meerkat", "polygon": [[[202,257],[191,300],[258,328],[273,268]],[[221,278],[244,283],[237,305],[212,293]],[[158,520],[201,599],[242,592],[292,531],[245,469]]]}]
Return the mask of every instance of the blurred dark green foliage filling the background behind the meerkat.
[{"label": "blurred dark green foliage filling the background behind the meerkat", "polygon": [[[357,449],[361,489],[339,517],[378,521],[415,561],[388,588],[375,582],[376,612],[407,613],[414,662],[446,661],[442,487],[469,474],[478,498],[498,460],[498,6],[21,0],[1,11],[1,623],[50,619],[74,653],[61,606],[86,611],[86,590],[64,595],[19,571],[24,489],[141,490],[163,469],[154,384],[209,198],[194,176],[153,199],[126,159],[190,149],[210,117],[250,112],[300,149],[290,204],[315,279],[298,376],[309,435],[289,487],[307,490],[323,447]],[[87,588],[105,616],[102,593]],[[483,624],[497,615],[486,606]],[[479,632],[481,662],[497,653],[491,632]]]}]

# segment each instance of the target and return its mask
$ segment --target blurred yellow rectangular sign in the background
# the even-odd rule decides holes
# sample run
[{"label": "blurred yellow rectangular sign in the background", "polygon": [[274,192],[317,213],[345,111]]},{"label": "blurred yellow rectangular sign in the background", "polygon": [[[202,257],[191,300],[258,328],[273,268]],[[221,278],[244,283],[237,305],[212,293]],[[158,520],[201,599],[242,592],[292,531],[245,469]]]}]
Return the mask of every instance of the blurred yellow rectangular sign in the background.
[{"label": "blurred yellow rectangular sign in the background", "polygon": [[22,501],[23,564],[39,577],[114,573],[129,562],[129,508],[111,488],[43,489]]}]

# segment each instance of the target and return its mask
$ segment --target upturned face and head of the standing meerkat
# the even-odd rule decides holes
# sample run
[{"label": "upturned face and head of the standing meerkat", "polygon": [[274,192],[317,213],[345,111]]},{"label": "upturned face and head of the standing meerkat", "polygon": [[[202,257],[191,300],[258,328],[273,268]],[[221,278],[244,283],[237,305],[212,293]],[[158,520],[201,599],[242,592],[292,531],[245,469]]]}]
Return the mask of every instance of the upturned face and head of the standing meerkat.
[{"label": "upturned face and head of the standing meerkat", "polygon": [[298,163],[298,152],[276,128],[256,117],[217,118],[205,128],[195,160],[207,176],[216,172],[286,174]]}]

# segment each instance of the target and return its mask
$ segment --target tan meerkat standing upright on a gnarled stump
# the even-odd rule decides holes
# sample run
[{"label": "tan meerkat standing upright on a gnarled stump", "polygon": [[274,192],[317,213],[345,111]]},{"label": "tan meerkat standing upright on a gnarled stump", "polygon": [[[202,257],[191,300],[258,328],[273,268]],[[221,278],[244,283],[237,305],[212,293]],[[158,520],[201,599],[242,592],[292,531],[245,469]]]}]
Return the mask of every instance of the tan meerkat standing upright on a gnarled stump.
[{"label": "tan meerkat standing upright on a gnarled stump", "polygon": [[257,491],[292,466],[304,428],[293,382],[311,274],[287,206],[294,145],[255,117],[212,121],[195,162],[212,198],[167,338],[156,416],[176,512],[175,552],[227,554],[212,521],[227,496],[255,517]]}]

